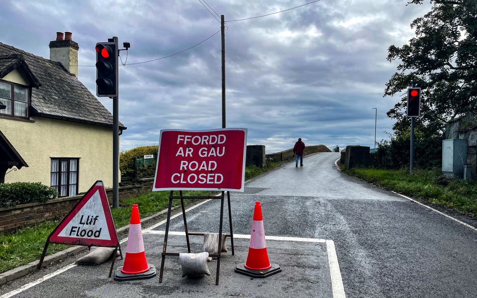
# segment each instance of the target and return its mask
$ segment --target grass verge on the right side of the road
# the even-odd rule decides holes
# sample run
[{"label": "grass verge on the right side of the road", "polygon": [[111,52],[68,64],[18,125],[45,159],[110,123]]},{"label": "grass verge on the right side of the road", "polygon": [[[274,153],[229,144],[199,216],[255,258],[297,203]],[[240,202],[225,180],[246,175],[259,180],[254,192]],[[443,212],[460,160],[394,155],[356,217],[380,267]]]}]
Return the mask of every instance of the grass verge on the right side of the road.
[{"label": "grass verge on the right side of the road", "polygon": [[477,181],[449,179],[438,168],[432,170],[343,169],[343,172],[388,190],[426,200],[477,217]]}]

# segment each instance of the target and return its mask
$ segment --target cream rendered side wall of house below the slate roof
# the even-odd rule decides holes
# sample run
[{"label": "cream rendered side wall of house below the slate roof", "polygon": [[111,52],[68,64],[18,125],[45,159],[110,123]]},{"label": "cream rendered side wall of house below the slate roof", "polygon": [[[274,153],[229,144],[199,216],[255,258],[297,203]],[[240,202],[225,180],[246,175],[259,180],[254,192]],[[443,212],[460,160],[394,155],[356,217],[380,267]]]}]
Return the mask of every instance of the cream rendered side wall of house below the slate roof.
[{"label": "cream rendered side wall of house below the slate roof", "polygon": [[28,167],[5,175],[9,182],[50,185],[51,157],[79,157],[79,192],[96,180],[113,185],[112,128],[43,117],[33,122],[0,118],[0,130]]}]

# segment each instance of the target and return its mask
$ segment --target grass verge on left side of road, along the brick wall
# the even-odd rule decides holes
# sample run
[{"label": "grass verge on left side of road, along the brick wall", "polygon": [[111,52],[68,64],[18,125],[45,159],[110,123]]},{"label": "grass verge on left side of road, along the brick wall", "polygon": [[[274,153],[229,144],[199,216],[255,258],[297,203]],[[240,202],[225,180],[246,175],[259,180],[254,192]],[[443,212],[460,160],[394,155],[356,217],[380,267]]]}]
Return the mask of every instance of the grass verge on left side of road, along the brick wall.
[{"label": "grass verge on left side of road, along the brick wall", "polygon": [[[269,171],[282,162],[269,162],[264,168],[249,166],[245,168],[245,180]],[[218,192],[185,191],[184,196],[206,196]],[[185,204],[193,203],[185,199]],[[120,202],[118,209],[111,209],[116,228],[129,224],[131,208],[138,204],[141,218],[146,218],[167,208],[169,192],[149,192],[137,197],[131,197]],[[174,206],[179,205],[179,200],[173,200]],[[45,241],[60,221],[43,222],[31,227],[23,228],[15,233],[0,233],[0,273],[38,260],[45,246]],[[63,250],[70,245],[50,244],[47,255]]]}]

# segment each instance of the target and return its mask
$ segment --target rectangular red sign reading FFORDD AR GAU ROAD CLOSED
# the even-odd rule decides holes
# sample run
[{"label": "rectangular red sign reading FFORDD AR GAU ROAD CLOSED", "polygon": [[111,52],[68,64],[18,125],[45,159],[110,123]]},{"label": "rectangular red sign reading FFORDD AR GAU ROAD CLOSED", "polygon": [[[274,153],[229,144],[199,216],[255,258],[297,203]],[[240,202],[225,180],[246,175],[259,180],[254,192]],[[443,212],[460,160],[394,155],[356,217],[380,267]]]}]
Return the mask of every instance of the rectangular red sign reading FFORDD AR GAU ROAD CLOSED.
[{"label": "rectangular red sign reading FFORDD AR GAU ROAD CLOSED", "polygon": [[153,191],[243,191],[247,129],[160,131]]}]

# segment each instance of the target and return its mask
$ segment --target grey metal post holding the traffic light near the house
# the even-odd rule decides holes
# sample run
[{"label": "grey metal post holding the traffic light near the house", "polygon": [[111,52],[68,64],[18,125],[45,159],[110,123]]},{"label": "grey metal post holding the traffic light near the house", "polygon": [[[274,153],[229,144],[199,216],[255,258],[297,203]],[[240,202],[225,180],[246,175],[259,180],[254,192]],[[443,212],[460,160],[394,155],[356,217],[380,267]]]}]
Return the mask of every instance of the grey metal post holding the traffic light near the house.
[{"label": "grey metal post holding the traffic light near the house", "polygon": [[[113,39],[117,49],[118,38],[113,36]],[[113,208],[119,208],[119,92],[113,97]]]}]

